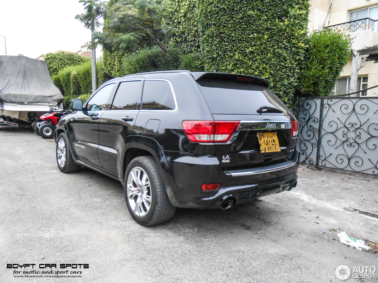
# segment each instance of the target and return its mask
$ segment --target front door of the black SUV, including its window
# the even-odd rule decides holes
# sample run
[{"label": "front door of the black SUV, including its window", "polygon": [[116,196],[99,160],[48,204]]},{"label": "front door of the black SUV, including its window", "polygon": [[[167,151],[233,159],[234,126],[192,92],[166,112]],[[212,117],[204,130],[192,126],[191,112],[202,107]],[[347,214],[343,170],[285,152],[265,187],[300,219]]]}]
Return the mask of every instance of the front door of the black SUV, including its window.
[{"label": "front door of the black SUV, including its window", "polygon": [[77,112],[73,120],[74,149],[76,155],[91,164],[101,166],[97,147],[99,146],[98,123],[101,115],[109,108],[110,95],[115,83],[103,86]]}]

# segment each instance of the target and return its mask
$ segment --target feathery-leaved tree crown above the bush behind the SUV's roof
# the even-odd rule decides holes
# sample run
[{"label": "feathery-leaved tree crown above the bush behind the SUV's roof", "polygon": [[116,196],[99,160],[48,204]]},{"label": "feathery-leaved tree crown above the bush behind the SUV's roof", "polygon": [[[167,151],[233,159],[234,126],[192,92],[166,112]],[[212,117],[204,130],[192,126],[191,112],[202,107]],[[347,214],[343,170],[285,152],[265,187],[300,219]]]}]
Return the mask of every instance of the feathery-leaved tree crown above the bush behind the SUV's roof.
[{"label": "feathery-leaved tree crown above the bush behind the SUV's roof", "polygon": [[134,52],[153,42],[168,53],[168,10],[160,0],[121,0],[109,8],[108,24],[97,33],[109,51]]}]

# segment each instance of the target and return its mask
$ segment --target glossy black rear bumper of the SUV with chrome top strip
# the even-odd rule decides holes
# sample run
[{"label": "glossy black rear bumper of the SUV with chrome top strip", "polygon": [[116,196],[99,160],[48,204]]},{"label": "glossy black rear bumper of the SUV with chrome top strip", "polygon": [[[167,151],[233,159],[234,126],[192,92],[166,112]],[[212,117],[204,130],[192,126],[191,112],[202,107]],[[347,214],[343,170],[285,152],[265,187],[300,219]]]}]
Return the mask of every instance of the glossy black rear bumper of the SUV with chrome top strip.
[{"label": "glossy black rear bumper of the SUV with chrome top strip", "polygon": [[[222,171],[219,164],[209,162],[211,158],[208,158],[206,165],[202,165],[197,160],[196,164],[184,163],[181,161],[183,157],[174,158],[169,156],[172,152],[164,153],[171,169],[170,172],[164,172],[164,183],[170,201],[177,207],[220,208],[228,198],[232,198],[234,204],[244,203],[264,195],[287,191],[297,181],[298,152],[293,160],[289,160],[290,163],[285,161],[284,164],[280,163],[281,167],[276,165],[275,168],[254,168],[248,171],[253,171],[253,174],[247,175],[232,175],[230,171]],[[185,161],[189,161],[189,158]],[[211,183],[221,185],[217,191],[202,191],[202,184]]]}]

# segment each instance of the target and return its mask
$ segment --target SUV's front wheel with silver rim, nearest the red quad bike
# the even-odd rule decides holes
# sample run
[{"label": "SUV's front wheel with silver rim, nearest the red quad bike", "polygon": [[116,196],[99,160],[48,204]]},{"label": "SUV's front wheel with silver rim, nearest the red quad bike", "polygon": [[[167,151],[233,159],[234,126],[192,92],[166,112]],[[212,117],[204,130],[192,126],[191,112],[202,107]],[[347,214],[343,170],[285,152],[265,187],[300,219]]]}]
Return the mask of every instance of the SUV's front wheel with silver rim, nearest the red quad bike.
[{"label": "SUV's front wheel with silver rim, nearest the red quad bike", "polygon": [[58,168],[63,173],[77,172],[81,166],[76,164],[73,160],[70,144],[68,143],[67,135],[63,132],[58,137],[56,143],[56,162]]}]

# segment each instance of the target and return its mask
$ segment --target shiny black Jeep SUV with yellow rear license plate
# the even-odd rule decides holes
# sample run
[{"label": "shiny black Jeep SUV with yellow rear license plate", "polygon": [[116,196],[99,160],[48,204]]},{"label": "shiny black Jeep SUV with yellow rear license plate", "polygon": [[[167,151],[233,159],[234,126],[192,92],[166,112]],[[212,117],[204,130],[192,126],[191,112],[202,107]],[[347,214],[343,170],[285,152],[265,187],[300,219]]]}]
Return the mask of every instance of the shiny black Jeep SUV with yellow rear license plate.
[{"label": "shiny black Jeep SUV with yellow rear license plate", "polygon": [[162,71],[104,83],[56,131],[60,171],[121,181],[144,226],[176,207],[222,208],[297,184],[298,122],[265,79]]}]

